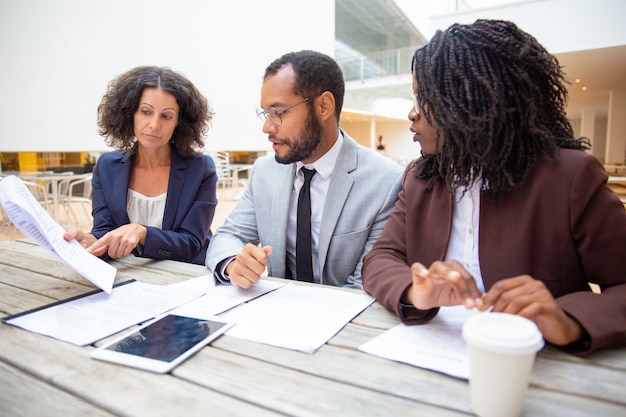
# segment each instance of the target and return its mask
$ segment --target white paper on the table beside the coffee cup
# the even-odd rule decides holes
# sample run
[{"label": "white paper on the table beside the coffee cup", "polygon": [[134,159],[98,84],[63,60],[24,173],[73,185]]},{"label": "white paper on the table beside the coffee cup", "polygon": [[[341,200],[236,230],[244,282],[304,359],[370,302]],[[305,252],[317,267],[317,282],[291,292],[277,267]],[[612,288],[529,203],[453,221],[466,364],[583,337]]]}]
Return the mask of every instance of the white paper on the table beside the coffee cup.
[{"label": "white paper on the table beside the coffee cup", "polygon": [[426,324],[399,324],[359,346],[359,350],[457,378],[469,378],[469,360],[462,330],[478,310],[463,306],[441,307]]}]

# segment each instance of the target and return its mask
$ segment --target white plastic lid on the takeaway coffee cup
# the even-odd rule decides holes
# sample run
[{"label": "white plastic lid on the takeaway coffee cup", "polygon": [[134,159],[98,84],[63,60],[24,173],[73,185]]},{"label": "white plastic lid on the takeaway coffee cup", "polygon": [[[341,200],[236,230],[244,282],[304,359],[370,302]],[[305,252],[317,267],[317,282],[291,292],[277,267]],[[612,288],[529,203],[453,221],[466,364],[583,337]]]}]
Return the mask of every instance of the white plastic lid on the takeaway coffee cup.
[{"label": "white plastic lid on the takeaway coffee cup", "polygon": [[536,353],[544,346],[539,328],[527,318],[507,313],[481,313],[463,325],[463,338],[482,349],[509,354]]}]

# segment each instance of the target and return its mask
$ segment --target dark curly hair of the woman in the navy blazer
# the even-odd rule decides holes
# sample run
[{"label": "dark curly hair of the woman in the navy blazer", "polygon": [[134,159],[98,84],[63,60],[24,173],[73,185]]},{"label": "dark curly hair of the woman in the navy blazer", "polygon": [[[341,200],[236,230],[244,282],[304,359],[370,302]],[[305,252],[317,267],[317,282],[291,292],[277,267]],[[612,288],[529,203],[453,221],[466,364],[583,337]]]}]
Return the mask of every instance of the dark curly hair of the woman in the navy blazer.
[{"label": "dark curly hair of the woman in the navy blazer", "polygon": [[130,154],[137,151],[133,117],[145,88],[158,88],[176,98],[178,125],[170,146],[182,156],[201,151],[213,118],[209,103],[187,78],[156,66],[133,68],[109,83],[98,105],[98,133],[106,144]]}]

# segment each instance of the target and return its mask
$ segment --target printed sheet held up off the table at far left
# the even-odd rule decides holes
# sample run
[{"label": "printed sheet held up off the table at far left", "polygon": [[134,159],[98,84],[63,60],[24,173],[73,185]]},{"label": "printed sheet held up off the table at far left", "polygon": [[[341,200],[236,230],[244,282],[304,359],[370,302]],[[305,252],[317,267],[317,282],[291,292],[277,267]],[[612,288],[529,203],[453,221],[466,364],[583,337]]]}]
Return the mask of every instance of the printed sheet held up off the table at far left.
[{"label": "printed sheet held up off the table at far left", "polygon": [[75,240],[67,242],[63,239],[65,230],[35,200],[22,180],[11,175],[0,181],[0,203],[22,233],[93,284],[111,293],[117,270],[87,252]]}]

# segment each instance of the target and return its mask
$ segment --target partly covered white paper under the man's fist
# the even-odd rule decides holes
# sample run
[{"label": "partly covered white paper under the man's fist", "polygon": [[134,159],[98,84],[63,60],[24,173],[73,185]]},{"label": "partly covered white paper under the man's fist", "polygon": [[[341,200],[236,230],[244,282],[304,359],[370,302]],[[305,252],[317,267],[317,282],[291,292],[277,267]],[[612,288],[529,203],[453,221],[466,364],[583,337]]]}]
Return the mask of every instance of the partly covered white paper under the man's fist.
[{"label": "partly covered white paper under the man's fist", "polygon": [[202,297],[178,307],[172,313],[194,317],[215,316],[246,301],[274,291],[283,285],[285,284],[262,279],[252,287],[243,289],[234,285],[215,285],[215,278],[212,274],[203,275],[172,285],[180,288],[196,289],[206,293]]}]

